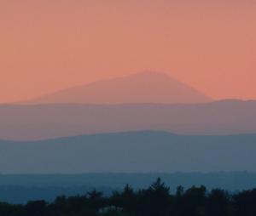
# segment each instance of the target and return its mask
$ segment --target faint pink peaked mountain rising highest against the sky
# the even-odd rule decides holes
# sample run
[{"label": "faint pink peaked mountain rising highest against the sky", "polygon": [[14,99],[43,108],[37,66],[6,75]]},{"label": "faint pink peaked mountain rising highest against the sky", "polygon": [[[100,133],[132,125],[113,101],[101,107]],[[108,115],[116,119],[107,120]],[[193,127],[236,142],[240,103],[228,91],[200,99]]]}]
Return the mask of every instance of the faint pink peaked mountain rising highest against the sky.
[{"label": "faint pink peaked mountain rising highest against the sky", "polygon": [[143,72],[67,88],[28,101],[29,104],[201,103],[212,99],[166,74]]}]

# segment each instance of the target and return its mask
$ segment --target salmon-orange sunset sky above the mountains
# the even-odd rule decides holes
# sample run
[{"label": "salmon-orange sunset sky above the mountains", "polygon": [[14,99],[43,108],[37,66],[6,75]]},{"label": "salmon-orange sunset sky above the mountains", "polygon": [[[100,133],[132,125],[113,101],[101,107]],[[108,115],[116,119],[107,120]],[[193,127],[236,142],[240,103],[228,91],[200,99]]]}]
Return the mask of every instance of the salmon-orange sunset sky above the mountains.
[{"label": "salmon-orange sunset sky above the mountains", "polygon": [[256,99],[256,1],[0,1],[2,103],[145,70]]}]

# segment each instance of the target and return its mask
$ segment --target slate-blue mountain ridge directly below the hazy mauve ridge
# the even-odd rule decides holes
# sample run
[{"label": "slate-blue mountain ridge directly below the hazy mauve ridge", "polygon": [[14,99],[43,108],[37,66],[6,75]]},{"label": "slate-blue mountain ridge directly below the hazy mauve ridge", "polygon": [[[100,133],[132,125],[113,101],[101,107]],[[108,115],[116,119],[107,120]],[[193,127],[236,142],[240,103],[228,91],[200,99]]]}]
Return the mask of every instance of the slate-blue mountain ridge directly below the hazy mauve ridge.
[{"label": "slate-blue mountain ridge directly below the hazy mauve ridge", "polygon": [[256,135],[163,132],[0,142],[1,173],[256,171]]}]

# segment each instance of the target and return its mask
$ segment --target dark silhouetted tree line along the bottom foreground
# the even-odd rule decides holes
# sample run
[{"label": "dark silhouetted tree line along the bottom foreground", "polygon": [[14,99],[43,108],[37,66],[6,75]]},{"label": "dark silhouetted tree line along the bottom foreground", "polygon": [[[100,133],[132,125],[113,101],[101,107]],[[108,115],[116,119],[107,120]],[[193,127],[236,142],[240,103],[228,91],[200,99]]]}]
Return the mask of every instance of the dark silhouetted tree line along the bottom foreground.
[{"label": "dark silhouetted tree line along the bottom foreground", "polygon": [[26,205],[0,202],[1,216],[255,216],[256,189],[231,194],[205,186],[171,191],[157,179],[147,189],[130,185],[111,196],[91,190],[84,196],[58,196],[54,202]]}]

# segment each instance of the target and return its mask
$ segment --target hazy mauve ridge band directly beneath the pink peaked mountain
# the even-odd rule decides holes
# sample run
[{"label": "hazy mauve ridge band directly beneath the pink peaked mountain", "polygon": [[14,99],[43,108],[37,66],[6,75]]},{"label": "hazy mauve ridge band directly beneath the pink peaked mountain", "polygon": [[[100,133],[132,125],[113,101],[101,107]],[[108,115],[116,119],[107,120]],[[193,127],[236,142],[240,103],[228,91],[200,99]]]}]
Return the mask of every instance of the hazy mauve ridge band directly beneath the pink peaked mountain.
[{"label": "hazy mauve ridge band directly beneath the pink peaked mountain", "polygon": [[[195,105],[0,105],[0,139],[160,130],[176,134],[256,133],[256,101]],[[1,172],[1,171],[0,171]]]}]

